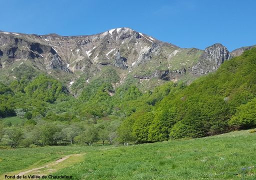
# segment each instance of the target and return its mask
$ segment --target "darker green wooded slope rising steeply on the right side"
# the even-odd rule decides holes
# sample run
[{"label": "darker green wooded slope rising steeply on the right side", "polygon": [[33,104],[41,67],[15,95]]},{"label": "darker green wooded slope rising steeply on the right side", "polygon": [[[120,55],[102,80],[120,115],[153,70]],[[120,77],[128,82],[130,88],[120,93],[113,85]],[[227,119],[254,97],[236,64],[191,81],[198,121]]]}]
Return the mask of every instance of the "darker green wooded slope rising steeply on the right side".
[{"label": "darker green wooded slope rising steeply on the right side", "polygon": [[255,69],[256,48],[251,48],[185,88],[170,88],[153,109],[140,109],[126,118],[119,132],[128,128],[137,141],[151,142],[255,127]]}]

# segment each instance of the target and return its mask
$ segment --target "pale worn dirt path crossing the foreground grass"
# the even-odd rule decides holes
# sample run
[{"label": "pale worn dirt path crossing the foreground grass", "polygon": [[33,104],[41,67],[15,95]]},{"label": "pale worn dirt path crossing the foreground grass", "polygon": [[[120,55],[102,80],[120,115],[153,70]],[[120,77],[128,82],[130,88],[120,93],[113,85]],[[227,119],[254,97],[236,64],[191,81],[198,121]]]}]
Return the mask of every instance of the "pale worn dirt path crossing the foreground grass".
[{"label": "pale worn dirt path crossing the foreground grass", "polygon": [[70,154],[70,155],[66,155],[64,157],[61,157],[53,162],[50,162],[48,164],[45,164],[41,167],[36,167],[36,168],[32,168],[32,169],[26,169],[24,171],[15,171],[15,172],[10,172],[8,173],[8,175],[26,175],[26,174],[34,174],[34,175],[47,175],[51,172],[55,172],[61,168],[67,167],[71,164],[74,164],[76,162],[79,162],[82,160],[82,156],[85,153],[79,153],[79,154]]}]

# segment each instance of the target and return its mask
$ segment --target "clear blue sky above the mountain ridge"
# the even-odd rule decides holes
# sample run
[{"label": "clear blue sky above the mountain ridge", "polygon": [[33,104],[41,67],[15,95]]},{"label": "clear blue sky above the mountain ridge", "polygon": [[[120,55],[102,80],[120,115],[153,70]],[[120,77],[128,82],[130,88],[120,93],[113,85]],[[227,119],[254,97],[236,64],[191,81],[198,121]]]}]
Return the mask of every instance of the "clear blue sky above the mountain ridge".
[{"label": "clear blue sky above the mountain ridge", "polygon": [[180,47],[256,44],[256,0],[0,0],[0,30],[88,35],[130,27]]}]

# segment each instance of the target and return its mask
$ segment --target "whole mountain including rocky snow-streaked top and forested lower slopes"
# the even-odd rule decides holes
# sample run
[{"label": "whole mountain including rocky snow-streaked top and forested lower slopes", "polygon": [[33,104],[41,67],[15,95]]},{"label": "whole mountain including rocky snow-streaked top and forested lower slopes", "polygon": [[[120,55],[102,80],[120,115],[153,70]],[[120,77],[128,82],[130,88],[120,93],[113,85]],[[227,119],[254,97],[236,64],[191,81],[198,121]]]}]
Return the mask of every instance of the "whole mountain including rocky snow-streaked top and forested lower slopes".
[{"label": "whole mountain including rocky snow-streaked top and forested lower slopes", "polygon": [[143,143],[256,126],[255,47],[180,48],[129,28],[0,32],[0,44],[0,145]]}]

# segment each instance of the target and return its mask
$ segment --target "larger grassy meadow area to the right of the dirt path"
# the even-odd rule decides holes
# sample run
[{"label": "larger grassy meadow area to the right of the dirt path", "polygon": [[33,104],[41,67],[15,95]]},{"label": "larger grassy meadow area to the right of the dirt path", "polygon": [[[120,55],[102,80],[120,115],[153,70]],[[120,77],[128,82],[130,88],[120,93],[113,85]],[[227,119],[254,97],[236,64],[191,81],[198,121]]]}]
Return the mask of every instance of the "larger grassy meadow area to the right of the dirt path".
[{"label": "larger grassy meadow area to the right of the dirt path", "polygon": [[244,130],[122,146],[88,153],[83,162],[57,174],[75,179],[255,179],[255,137]]}]

